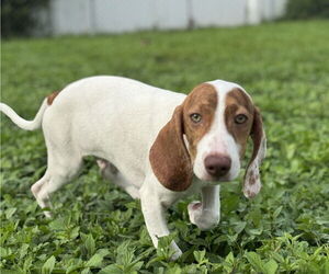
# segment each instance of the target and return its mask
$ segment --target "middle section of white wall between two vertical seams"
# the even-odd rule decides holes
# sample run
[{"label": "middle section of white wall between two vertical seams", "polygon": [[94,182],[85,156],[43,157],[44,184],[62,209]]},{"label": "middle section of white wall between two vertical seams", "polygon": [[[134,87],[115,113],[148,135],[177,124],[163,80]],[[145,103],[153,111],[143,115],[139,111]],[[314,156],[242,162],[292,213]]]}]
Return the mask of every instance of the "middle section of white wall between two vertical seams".
[{"label": "middle section of white wall between two vertical seams", "polygon": [[93,0],[94,31],[121,33],[149,28],[184,28],[186,1]]}]

